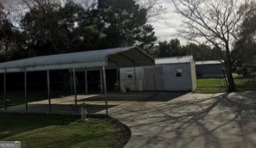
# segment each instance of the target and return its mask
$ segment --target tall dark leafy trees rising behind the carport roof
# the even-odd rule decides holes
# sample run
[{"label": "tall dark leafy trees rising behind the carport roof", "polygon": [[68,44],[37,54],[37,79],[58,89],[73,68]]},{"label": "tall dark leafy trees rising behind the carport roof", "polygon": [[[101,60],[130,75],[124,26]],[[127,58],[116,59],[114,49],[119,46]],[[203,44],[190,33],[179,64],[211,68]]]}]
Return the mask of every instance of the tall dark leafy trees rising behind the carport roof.
[{"label": "tall dark leafy trees rising behind the carport roof", "polygon": [[0,3],[1,61],[120,46],[149,49],[157,40],[148,23],[150,15],[160,12],[157,5],[134,0],[22,2],[29,10],[16,26]]}]

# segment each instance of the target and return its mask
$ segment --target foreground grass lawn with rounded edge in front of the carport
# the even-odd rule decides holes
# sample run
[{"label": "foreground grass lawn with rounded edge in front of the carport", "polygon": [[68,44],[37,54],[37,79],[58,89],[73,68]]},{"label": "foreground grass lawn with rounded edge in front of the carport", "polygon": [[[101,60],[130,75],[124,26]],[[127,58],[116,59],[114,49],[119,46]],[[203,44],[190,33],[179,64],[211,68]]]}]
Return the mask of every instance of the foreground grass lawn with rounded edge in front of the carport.
[{"label": "foreground grass lawn with rounded edge in front of the carport", "polygon": [[116,129],[106,119],[76,122],[74,116],[0,114],[0,141],[22,147],[116,147]]}]

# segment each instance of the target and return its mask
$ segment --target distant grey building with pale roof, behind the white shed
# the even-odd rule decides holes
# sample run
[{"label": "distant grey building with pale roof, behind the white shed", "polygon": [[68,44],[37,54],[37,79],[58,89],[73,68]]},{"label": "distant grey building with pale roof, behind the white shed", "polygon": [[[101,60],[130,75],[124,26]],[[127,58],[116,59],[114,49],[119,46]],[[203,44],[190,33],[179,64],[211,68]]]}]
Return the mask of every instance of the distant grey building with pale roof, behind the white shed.
[{"label": "distant grey building with pale roof, behind the white shed", "polygon": [[224,61],[208,60],[195,62],[197,77],[223,77]]}]

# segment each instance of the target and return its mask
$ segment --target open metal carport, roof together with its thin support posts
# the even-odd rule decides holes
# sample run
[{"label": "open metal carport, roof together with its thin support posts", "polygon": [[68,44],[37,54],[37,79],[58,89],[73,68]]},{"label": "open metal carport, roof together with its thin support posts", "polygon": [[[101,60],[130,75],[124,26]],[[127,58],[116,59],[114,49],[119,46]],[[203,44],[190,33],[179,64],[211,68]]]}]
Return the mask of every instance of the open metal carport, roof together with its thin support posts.
[{"label": "open metal carport, roof together with its thin support posts", "polygon": [[[24,101],[26,104],[26,111],[28,111],[27,102],[27,72],[29,71],[47,71],[48,81],[48,106],[51,112],[51,98],[50,98],[50,76],[51,70],[72,70],[74,73],[74,104],[77,108],[77,94],[75,71],[77,69],[99,69],[102,71],[103,89],[106,95],[106,69],[121,68],[121,67],[135,67],[143,65],[154,65],[154,59],[136,46],[120,47],[113,49],[105,49],[88,52],[73,52],[58,55],[42,56],[29,59],[21,59],[16,61],[0,63],[0,73],[3,73],[3,88],[4,88],[4,107],[7,109],[6,102],[6,74],[9,72],[23,72],[24,73]],[[106,114],[107,109],[107,98]]]}]

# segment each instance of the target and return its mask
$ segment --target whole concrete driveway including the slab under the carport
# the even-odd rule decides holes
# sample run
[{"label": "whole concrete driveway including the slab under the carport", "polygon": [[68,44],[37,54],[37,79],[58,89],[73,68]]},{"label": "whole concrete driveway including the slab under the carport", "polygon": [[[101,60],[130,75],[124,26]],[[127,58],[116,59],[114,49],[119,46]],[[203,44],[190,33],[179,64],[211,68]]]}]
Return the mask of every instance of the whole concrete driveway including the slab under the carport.
[{"label": "whole concrete driveway including the slab under the carport", "polygon": [[[131,129],[125,148],[256,147],[256,92],[136,93],[108,98],[110,115]],[[86,102],[91,113],[105,114],[104,96],[78,99],[79,104]],[[55,98],[52,103],[53,113],[75,114],[73,96]],[[46,113],[47,104],[47,100],[31,102],[29,112]],[[7,112],[24,112],[24,105]]]}]

